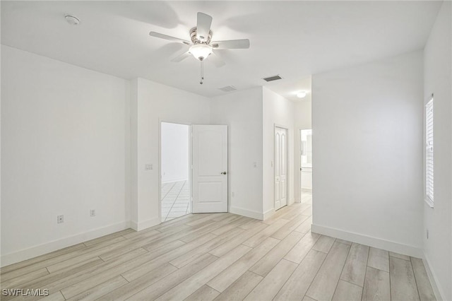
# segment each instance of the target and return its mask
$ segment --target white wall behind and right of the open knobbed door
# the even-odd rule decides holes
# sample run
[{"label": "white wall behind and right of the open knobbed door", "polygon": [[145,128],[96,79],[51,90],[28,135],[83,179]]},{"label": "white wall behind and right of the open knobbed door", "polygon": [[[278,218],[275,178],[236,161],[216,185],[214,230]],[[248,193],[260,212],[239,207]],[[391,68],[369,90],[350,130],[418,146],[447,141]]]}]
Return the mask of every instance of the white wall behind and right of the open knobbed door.
[{"label": "white wall behind and right of the open knobbed door", "polygon": [[262,88],[218,96],[210,103],[211,123],[228,126],[229,210],[262,219]]}]

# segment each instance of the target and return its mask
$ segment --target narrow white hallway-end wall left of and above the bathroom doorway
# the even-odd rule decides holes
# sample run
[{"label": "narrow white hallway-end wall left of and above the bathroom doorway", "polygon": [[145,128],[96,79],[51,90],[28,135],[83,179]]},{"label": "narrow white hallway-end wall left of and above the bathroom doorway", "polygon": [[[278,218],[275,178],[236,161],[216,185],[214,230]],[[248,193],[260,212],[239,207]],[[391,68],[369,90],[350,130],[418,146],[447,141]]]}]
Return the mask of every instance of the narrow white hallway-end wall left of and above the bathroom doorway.
[{"label": "narrow white hallway-end wall left of and above the bathroom doorway", "polygon": [[301,187],[300,187],[300,172],[297,169],[300,166],[299,158],[299,130],[300,129],[312,129],[311,124],[311,101],[300,101],[294,104],[295,113],[295,141],[294,141],[294,164],[295,164],[295,174],[294,174],[294,189],[295,189],[295,201],[299,202],[301,200]]}]

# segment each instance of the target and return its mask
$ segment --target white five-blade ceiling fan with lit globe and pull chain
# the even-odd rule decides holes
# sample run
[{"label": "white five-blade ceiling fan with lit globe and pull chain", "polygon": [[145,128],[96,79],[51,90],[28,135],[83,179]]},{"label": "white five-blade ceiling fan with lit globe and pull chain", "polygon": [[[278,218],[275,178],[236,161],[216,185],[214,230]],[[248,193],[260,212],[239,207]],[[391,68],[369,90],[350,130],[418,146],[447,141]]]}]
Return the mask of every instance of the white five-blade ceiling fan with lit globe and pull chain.
[{"label": "white five-blade ceiling fan with lit globe and pull chain", "polygon": [[[204,60],[206,60],[210,54],[213,54],[213,50],[220,49],[248,49],[249,48],[249,40],[226,40],[226,41],[212,41],[212,30],[210,30],[210,25],[212,25],[212,17],[207,15],[206,13],[198,13],[198,22],[196,27],[191,28],[189,31],[190,41],[179,39],[178,37],[172,37],[169,35],[163,35],[162,33],[155,33],[151,31],[149,35],[151,37],[160,37],[160,39],[165,39],[173,42],[180,42],[184,45],[189,45],[190,48],[187,52],[175,57],[171,61],[179,62],[183,59],[186,59],[190,55],[193,55],[195,59],[201,61],[201,85],[204,79]],[[220,59],[213,60],[213,64],[215,66],[223,66],[225,65],[224,61]]]}]

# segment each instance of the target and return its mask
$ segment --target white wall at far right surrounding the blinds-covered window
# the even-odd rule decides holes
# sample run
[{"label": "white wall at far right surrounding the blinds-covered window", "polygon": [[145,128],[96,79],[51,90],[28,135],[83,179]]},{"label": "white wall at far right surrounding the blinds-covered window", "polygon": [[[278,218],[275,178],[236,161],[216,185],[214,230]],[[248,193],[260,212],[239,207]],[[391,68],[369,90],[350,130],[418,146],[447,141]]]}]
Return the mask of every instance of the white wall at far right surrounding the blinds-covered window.
[{"label": "white wall at far right surrounding the blinds-covered window", "polygon": [[452,300],[451,26],[451,1],[444,1],[424,49],[424,103],[434,93],[434,208],[423,204],[422,236],[444,300]]}]

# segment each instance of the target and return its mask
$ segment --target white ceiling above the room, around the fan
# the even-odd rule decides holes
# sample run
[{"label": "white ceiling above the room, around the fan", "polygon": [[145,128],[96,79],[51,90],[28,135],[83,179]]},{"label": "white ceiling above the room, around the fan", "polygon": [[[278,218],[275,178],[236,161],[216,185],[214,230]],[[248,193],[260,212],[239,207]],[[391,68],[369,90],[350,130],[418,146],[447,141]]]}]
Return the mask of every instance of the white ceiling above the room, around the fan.
[{"label": "white ceiling above the room, around the fan", "polygon": [[[226,85],[281,85],[299,78],[422,49],[439,1],[1,1],[1,44],[121,78],[148,78],[199,95]],[[170,59],[182,44],[149,37],[157,31],[189,40],[196,13],[213,16],[213,40],[249,38],[250,49],[217,50],[226,62]],[[71,13],[81,24],[64,19]],[[272,90],[276,83],[271,84]],[[278,90],[278,89],[277,89]],[[293,90],[293,89],[292,89]]]}]

